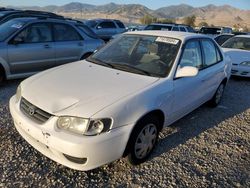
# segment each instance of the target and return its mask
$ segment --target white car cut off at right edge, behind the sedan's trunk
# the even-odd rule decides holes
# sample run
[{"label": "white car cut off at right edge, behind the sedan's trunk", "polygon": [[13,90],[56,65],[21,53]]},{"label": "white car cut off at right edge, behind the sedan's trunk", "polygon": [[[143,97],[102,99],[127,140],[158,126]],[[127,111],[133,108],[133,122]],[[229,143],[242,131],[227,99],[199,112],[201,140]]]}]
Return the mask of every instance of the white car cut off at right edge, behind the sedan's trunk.
[{"label": "white car cut off at right edge, behind the sedan's trunk", "polygon": [[232,75],[250,77],[250,35],[238,35],[222,45],[232,61]]}]

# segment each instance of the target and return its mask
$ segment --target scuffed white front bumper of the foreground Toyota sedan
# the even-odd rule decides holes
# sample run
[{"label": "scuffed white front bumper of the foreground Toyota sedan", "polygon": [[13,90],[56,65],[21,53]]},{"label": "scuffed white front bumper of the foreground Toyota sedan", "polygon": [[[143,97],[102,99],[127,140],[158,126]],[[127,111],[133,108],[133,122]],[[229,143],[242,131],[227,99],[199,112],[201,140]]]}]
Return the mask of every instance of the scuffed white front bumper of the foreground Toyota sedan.
[{"label": "scuffed white front bumper of the foreground Toyota sedan", "polygon": [[[55,127],[56,117],[44,124],[37,124],[20,111],[15,99],[15,96],[10,99],[10,112],[17,131],[50,159],[69,168],[85,171],[122,157],[133,124],[97,136],[75,135],[58,130]],[[77,159],[81,164],[75,162]]]}]

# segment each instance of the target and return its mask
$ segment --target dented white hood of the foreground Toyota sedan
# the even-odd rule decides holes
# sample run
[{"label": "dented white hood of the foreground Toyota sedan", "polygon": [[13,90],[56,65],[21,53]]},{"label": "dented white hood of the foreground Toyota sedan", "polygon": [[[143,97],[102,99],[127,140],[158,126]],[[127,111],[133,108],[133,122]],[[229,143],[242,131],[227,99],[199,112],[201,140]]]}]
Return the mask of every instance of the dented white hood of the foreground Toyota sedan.
[{"label": "dented white hood of the foreground Toyota sedan", "polygon": [[22,83],[22,96],[54,115],[91,117],[159,78],[79,61],[37,74]]}]

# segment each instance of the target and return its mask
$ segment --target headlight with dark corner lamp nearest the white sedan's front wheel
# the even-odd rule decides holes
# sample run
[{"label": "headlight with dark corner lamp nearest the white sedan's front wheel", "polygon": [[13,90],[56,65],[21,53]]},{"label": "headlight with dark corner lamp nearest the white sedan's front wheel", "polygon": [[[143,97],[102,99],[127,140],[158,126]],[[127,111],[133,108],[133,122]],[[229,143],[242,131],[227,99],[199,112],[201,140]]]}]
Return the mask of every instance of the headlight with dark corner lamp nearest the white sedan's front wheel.
[{"label": "headlight with dark corner lamp nearest the white sedan's front wheel", "polygon": [[93,136],[108,131],[111,119],[89,120],[78,117],[59,117],[57,127],[77,134]]}]

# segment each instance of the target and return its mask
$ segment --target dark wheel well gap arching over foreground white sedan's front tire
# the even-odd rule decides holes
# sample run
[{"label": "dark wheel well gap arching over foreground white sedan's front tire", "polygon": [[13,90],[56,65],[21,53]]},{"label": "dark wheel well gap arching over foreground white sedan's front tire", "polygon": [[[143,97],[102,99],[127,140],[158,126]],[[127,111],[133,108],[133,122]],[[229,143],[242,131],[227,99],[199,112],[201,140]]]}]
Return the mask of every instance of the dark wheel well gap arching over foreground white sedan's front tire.
[{"label": "dark wheel well gap arching over foreground white sedan's front tire", "polygon": [[[144,118],[146,118],[146,117],[151,117],[151,116],[156,116],[156,117],[159,119],[159,125],[160,125],[159,131],[161,131],[162,128],[163,128],[163,125],[164,125],[164,121],[165,121],[164,113],[163,113],[161,110],[153,110],[153,111],[148,112],[147,114],[143,115],[143,116],[136,122],[136,124],[135,124],[133,130],[132,130],[131,133],[130,133],[130,136],[131,136],[132,132],[134,131],[136,125],[138,125],[138,123],[139,123],[140,121],[142,121],[142,120],[143,120]],[[128,142],[127,142],[125,151],[124,151],[124,153],[123,153],[123,157],[125,157],[125,156],[127,156],[127,155],[129,154],[129,141],[130,141],[130,137],[129,137],[129,139],[128,139]]]}]

